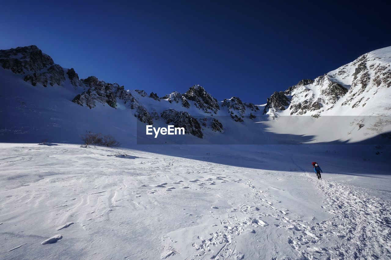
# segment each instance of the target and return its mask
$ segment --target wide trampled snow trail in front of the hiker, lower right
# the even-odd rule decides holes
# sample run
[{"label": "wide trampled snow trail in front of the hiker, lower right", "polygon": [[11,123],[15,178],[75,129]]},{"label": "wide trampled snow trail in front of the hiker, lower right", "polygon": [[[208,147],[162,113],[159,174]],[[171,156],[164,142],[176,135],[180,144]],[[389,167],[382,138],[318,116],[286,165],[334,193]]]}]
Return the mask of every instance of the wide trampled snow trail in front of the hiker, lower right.
[{"label": "wide trampled snow trail in front of the hiker, lower right", "polygon": [[[332,258],[391,259],[391,205],[364,189],[334,181],[319,181],[326,207],[334,217],[320,223],[323,237],[339,237]],[[327,227],[327,228],[326,228]]]}]

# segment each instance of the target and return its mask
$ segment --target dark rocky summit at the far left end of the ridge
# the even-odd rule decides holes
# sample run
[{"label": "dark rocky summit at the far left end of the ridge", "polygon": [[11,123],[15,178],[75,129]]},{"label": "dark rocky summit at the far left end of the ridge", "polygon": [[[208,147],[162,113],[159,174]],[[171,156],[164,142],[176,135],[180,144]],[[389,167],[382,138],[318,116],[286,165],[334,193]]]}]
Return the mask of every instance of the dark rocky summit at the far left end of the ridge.
[{"label": "dark rocky summit at the far left end of the ridge", "polygon": [[18,74],[37,72],[54,64],[52,58],[35,45],[0,50],[0,63],[4,69]]}]

